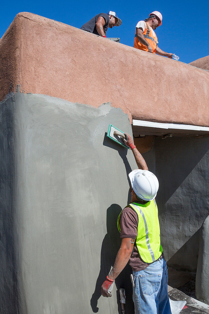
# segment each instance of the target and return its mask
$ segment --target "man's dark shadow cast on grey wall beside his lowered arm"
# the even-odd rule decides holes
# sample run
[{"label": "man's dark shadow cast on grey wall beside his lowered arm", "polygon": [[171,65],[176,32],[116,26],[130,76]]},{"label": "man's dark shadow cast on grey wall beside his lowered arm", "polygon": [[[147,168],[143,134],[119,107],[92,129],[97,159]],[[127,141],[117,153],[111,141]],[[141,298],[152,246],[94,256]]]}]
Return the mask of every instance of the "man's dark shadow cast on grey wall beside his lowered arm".
[{"label": "man's dark shadow cast on grey wall beside his lowered arm", "polygon": [[[121,245],[120,233],[117,229],[117,219],[121,213],[121,206],[118,204],[112,204],[107,209],[107,234],[102,242],[101,248],[101,263],[100,272],[96,281],[96,286],[94,293],[91,298],[91,307],[94,313],[99,311],[97,307],[98,300],[101,296],[101,286],[105,281],[107,275],[110,272],[111,267],[114,265],[115,257]],[[115,279],[115,285],[117,290],[119,288],[124,288],[126,292],[126,304],[125,311],[127,314],[134,313],[134,304],[132,300],[132,285],[130,280],[130,274],[132,269],[129,264],[126,265],[124,270]],[[101,296],[103,298],[103,296]],[[117,301],[118,301],[118,313],[121,313],[120,297],[117,291]]]}]

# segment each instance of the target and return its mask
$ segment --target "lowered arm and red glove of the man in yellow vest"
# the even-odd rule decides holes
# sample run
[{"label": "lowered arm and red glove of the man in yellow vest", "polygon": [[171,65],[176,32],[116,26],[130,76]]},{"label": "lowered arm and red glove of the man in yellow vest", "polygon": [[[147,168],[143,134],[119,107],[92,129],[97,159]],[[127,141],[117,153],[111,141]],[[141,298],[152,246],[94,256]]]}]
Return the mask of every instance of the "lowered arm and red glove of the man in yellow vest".
[{"label": "lowered arm and red glove of the man in yellow vest", "polygon": [[[121,273],[123,268],[128,263],[129,258],[131,257],[131,253],[133,251],[133,245],[134,245],[135,239],[133,238],[122,238],[121,239],[121,247],[118,251],[118,254],[115,258],[115,263],[113,268],[111,269],[108,278],[112,281],[115,280],[115,278]],[[102,285],[101,293],[103,296],[111,296],[108,293],[108,287],[105,287],[104,283]]]}]

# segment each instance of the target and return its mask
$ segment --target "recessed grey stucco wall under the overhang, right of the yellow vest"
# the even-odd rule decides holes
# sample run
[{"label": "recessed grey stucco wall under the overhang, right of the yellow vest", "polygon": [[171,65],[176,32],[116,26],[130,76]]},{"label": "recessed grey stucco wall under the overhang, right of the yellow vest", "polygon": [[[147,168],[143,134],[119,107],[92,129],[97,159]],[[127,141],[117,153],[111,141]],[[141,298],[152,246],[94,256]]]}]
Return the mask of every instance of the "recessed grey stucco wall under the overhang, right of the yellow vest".
[{"label": "recessed grey stucco wall under the overhang, right of the yellow vest", "polygon": [[156,200],[168,265],[195,272],[199,229],[209,214],[209,138],[156,137],[144,158],[155,160]]}]

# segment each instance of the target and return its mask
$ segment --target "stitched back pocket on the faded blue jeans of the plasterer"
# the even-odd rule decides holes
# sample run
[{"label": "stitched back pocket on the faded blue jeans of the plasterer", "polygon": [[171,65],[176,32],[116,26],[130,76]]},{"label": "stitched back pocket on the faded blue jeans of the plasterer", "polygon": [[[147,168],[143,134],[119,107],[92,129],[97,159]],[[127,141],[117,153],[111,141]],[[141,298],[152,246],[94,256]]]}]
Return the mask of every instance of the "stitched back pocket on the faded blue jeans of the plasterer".
[{"label": "stitched back pocket on the faded blue jeans of the plasterer", "polygon": [[140,275],[142,292],[145,295],[152,295],[157,292],[160,285],[160,274],[158,275]]}]

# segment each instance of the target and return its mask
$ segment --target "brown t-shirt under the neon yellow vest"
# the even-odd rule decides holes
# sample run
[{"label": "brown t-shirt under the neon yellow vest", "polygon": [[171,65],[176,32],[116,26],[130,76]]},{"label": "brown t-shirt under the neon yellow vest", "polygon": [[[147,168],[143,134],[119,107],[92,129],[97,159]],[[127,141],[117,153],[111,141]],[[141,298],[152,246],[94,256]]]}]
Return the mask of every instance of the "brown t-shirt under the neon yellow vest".
[{"label": "brown t-shirt under the neon yellow vest", "polygon": [[[136,239],[138,235],[138,215],[131,208],[126,207],[123,209],[120,220],[121,226],[121,238],[133,238]],[[163,256],[163,254],[162,254]],[[144,263],[139,255],[136,244],[134,244],[133,252],[128,261],[129,265],[133,269],[134,272],[138,272],[147,268],[149,264]]]}]

